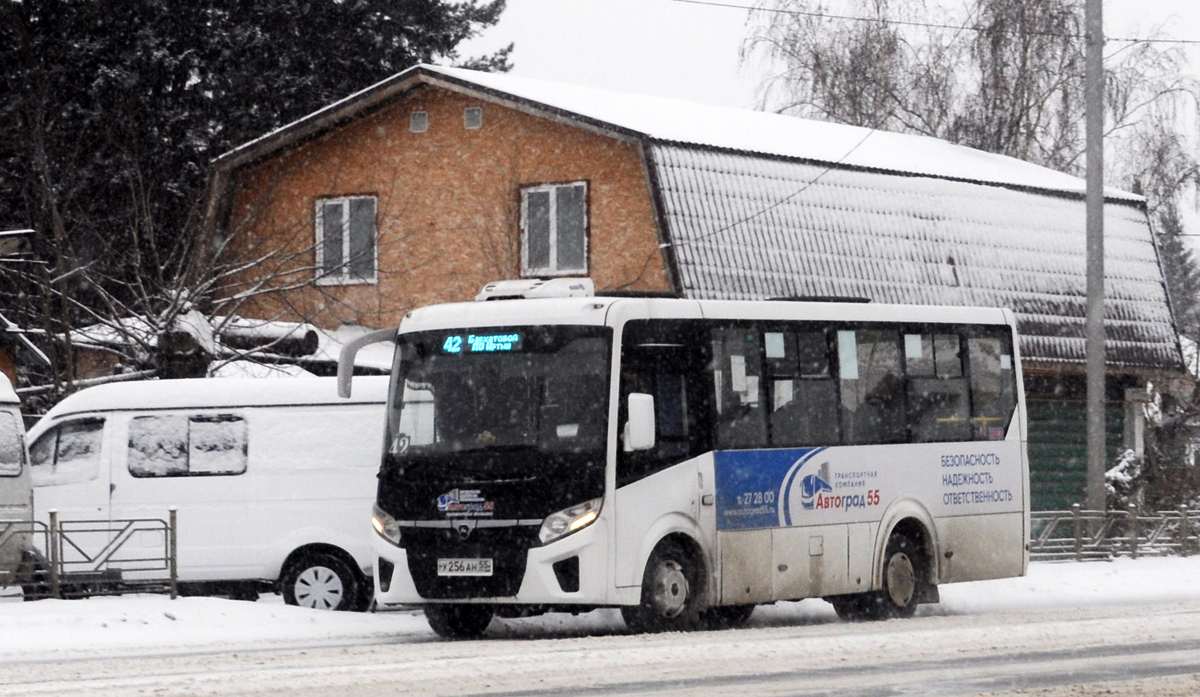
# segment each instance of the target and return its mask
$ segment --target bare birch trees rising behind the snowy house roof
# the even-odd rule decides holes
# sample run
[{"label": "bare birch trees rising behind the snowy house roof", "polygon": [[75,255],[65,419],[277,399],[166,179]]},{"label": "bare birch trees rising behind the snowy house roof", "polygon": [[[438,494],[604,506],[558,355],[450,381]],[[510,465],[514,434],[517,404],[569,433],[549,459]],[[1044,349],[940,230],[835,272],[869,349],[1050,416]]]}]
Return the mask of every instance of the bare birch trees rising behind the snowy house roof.
[{"label": "bare birch trees rising behind the snowy house roof", "polygon": [[[767,77],[761,107],[920,133],[1082,172],[1082,7],[1069,0],[762,0],[745,60]],[[1154,212],[1196,185],[1178,115],[1200,102],[1177,47],[1115,48],[1106,59],[1110,181]]]}]

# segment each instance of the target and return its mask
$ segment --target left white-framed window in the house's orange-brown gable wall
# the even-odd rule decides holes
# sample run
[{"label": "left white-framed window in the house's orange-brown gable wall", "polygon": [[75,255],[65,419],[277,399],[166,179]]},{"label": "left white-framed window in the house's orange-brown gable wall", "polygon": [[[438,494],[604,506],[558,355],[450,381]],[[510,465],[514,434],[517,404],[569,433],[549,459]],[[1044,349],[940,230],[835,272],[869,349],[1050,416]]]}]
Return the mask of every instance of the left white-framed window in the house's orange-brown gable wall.
[{"label": "left white-framed window in the house's orange-brown gable wall", "polygon": [[317,282],[374,283],[373,196],[317,202]]}]

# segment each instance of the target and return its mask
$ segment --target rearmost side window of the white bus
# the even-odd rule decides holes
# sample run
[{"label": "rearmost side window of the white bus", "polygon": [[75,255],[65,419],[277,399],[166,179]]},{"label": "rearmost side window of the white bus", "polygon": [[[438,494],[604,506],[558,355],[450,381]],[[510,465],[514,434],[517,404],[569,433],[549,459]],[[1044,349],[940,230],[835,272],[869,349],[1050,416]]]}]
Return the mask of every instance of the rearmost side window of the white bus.
[{"label": "rearmost side window of the white bus", "polygon": [[967,340],[971,361],[971,421],[976,440],[1003,440],[1016,407],[1013,351],[1007,337]]}]

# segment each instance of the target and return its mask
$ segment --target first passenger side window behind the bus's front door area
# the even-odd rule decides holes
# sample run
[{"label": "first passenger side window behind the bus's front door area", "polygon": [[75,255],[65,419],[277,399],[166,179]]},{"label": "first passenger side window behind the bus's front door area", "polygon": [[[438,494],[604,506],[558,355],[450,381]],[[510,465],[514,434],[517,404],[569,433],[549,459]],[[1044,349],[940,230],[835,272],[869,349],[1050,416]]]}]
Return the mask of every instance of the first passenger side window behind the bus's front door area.
[{"label": "first passenger side window behind the bus's front door area", "polygon": [[713,330],[712,367],[718,447],[767,445],[760,341],[758,330],[751,328]]}]

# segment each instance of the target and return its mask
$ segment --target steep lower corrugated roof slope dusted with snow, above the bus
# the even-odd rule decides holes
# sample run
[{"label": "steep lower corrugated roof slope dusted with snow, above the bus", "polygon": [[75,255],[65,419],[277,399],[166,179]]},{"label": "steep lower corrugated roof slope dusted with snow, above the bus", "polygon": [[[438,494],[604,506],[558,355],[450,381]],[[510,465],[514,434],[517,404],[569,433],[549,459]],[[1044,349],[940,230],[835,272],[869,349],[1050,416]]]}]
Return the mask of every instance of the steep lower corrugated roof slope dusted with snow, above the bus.
[{"label": "steep lower corrugated roof slope dusted with snow, above the bus", "polygon": [[[1026,360],[1082,362],[1085,202],[678,145],[649,152],[689,298],[1008,307]],[[1139,205],[1105,206],[1108,361],[1180,369]]]}]

